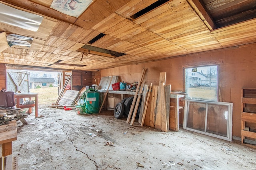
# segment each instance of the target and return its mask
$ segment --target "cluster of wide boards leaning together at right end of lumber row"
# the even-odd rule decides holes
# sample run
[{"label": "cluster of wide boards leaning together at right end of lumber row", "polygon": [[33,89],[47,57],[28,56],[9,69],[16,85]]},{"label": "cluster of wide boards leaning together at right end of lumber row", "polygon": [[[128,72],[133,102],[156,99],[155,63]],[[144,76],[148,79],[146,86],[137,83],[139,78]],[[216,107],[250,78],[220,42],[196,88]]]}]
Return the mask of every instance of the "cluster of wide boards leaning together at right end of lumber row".
[{"label": "cluster of wide boards leaning together at right end of lumber row", "polygon": [[160,72],[158,86],[152,86],[152,92],[149,93],[148,107],[143,115],[144,121],[141,124],[154,127],[161,131],[169,131],[170,119],[170,92],[171,85],[166,85],[166,72]]}]

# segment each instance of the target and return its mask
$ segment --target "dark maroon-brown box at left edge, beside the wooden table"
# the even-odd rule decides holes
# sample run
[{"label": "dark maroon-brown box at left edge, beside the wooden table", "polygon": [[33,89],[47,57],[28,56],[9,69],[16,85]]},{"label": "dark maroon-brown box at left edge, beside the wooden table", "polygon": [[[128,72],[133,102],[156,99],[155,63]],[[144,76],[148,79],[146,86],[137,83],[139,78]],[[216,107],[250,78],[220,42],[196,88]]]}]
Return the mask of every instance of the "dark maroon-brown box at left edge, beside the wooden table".
[{"label": "dark maroon-brown box at left edge, beside the wooden table", "polygon": [[14,107],[14,92],[6,91],[2,89],[0,91],[0,107]]}]

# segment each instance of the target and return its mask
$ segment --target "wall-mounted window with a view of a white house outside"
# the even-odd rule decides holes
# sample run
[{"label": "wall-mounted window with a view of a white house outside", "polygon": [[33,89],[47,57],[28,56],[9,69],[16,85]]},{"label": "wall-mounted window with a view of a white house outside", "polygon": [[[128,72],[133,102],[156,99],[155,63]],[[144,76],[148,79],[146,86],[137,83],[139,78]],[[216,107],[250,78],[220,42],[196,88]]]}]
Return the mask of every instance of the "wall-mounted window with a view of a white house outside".
[{"label": "wall-mounted window with a view of a white house outside", "polygon": [[186,99],[218,101],[218,65],[184,68],[184,74]]}]

